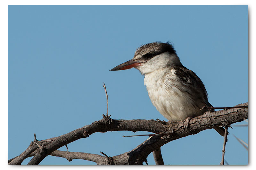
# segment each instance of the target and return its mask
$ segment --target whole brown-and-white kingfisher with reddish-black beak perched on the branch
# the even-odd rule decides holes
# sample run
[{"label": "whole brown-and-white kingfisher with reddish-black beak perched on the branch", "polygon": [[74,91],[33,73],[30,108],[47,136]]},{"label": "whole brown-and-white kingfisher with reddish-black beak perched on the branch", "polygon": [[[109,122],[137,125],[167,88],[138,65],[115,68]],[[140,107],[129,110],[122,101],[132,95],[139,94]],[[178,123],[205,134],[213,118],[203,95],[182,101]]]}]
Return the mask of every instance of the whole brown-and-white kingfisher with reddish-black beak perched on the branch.
[{"label": "whole brown-and-white kingfisher with reddish-black beak perched on the branch", "polygon": [[[169,122],[185,121],[203,115],[212,107],[201,79],[180,62],[176,50],[170,42],[152,42],[141,45],[134,57],[110,71],[135,68],[144,75],[144,85],[156,109]],[[187,124],[186,124],[187,123]],[[214,129],[224,136],[223,127]]]}]

